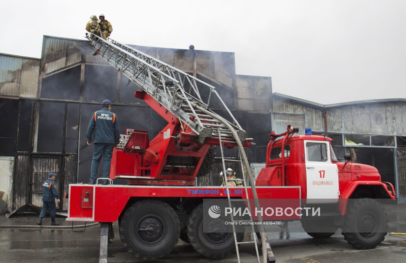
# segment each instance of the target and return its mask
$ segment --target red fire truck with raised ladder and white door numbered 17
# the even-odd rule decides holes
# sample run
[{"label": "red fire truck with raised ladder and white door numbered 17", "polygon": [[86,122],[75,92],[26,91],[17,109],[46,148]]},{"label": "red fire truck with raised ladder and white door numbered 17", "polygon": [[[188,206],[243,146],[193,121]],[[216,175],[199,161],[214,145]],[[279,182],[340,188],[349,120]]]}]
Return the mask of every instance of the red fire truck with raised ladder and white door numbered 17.
[{"label": "red fire truck with raised ladder and white door numbered 17", "polygon": [[[241,241],[241,234],[203,232],[205,198],[294,199],[296,207],[335,204],[336,211],[318,218],[323,231],[313,232],[310,218],[281,220],[301,220],[304,230],[317,238],[342,228],[348,243],[360,249],[375,248],[384,239],[387,215],[374,199],[395,199],[395,190],[391,183],[381,182],[376,168],[353,164],[350,156],[338,162],[330,138],[298,135],[289,125],[283,134],[270,134],[266,167],[254,185],[242,149],[253,139],[246,138],[214,87],[208,100],[216,95],[232,121],[209,110],[209,101],[202,102],[197,82],[204,82],[112,39],[93,36],[90,43],[95,55],[142,88],[135,96],[168,122],[151,141],[147,131],[127,129],[121,135],[110,179],[127,179],[128,185],[113,185],[112,180],[110,185],[69,185],[67,221],[101,222],[105,258],[104,241],[112,237],[111,223],[117,221],[123,245],[143,259],[163,257],[179,238],[210,258],[225,257],[236,248],[238,252],[235,237]],[[212,167],[214,146],[220,145],[238,147],[251,188],[194,186],[196,177]],[[356,202],[348,204],[351,199]],[[385,231],[377,231],[382,222]]]}]

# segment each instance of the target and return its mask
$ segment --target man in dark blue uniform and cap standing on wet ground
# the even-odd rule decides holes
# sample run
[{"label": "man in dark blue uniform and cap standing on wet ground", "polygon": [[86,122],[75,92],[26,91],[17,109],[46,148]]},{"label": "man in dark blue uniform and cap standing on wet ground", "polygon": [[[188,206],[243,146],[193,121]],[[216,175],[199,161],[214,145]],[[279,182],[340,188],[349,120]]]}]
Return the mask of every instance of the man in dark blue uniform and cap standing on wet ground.
[{"label": "man in dark blue uniform and cap standing on wet ground", "polygon": [[56,202],[60,203],[58,191],[56,191],[56,184],[54,182],[56,173],[50,172],[48,174],[48,180],[42,183],[42,210],[39,214],[38,225],[42,226],[42,218],[44,218],[47,210],[50,211],[51,226],[57,226],[58,223],[55,221],[55,198]]}]

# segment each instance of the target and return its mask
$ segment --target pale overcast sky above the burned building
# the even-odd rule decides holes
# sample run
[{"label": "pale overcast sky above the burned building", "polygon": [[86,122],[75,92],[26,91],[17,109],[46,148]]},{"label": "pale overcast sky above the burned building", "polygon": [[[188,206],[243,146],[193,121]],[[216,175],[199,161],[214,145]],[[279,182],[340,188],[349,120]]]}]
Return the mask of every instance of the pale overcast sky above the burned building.
[{"label": "pale overcast sky above the burned building", "polygon": [[6,1],[0,53],[41,56],[43,35],[82,39],[104,13],[112,38],[235,52],[236,73],[273,92],[339,103],[406,98],[406,1]]}]

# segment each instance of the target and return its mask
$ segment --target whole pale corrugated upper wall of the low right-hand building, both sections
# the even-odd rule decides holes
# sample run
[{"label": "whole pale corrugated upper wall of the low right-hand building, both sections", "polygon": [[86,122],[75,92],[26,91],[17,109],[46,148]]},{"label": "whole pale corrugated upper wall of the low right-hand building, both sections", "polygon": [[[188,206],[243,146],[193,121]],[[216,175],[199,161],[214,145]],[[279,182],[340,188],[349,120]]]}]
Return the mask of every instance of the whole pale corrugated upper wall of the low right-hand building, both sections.
[{"label": "whole pale corrugated upper wall of the low right-hand building, both sections", "polygon": [[[322,105],[274,95],[274,128],[285,131],[286,123],[324,131],[323,113],[328,133],[406,136],[406,100],[356,101]],[[281,115],[282,114],[282,115]],[[288,115],[292,114],[292,115]],[[300,115],[300,116],[299,116]]]}]

